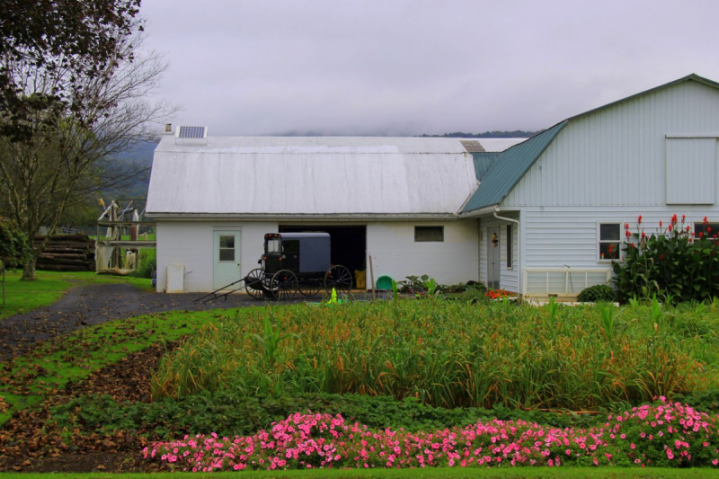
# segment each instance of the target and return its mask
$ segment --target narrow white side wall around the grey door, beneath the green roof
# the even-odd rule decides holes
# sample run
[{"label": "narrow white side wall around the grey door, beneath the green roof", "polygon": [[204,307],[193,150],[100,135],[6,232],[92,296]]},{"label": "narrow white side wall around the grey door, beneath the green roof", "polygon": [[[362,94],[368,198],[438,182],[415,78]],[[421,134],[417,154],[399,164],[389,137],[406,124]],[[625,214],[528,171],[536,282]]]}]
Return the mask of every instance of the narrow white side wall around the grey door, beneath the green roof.
[{"label": "narrow white side wall around the grey door, beneath the green roof", "polygon": [[[512,212],[502,211],[498,213],[502,217],[519,219],[519,215]],[[512,267],[507,268],[507,225],[512,225]],[[519,292],[519,231],[516,223],[502,221],[495,217],[484,217],[480,220],[480,242],[479,242],[479,280],[484,284],[487,282],[487,244],[490,241],[487,235],[487,228],[500,228],[500,288],[513,293]]]}]

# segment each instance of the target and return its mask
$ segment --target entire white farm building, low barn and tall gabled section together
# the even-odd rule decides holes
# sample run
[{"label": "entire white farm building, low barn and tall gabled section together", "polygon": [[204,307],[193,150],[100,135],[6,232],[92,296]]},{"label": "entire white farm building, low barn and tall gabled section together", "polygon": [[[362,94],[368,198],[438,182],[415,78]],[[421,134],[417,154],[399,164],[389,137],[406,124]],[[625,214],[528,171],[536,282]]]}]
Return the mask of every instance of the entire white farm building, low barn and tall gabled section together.
[{"label": "entire white farm building, low barn and tall gabled section together", "polygon": [[[719,221],[717,139],[719,84],[697,75],[523,142],[165,136],[147,202],[158,290],[170,266],[185,291],[241,277],[265,233],[328,231],[333,262],[361,271],[371,254],[376,277],[573,297],[608,281],[639,215],[647,232],[675,213]],[[220,262],[228,240],[238,261]]]}]

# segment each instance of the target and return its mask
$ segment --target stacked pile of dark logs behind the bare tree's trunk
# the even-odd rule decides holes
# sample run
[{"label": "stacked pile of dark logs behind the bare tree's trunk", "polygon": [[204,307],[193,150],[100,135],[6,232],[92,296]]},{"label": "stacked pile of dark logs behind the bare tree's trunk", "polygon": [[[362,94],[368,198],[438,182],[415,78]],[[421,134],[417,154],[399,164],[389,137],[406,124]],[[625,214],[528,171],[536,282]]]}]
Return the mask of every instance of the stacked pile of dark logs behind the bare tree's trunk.
[{"label": "stacked pile of dark logs behind the bare tree's trunk", "polygon": [[[35,247],[44,240],[45,236],[35,236]],[[51,236],[36,267],[45,271],[95,271],[95,242],[83,233]]]}]

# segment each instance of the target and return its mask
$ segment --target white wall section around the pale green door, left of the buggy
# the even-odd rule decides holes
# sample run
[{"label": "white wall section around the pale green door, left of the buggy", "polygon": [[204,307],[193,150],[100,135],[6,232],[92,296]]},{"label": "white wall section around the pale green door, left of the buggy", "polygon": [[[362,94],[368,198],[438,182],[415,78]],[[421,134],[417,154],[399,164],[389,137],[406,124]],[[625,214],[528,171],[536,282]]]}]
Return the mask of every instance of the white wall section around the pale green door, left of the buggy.
[{"label": "white wall section around the pale green door, left of the buggy", "polygon": [[265,233],[277,233],[278,224],[270,222],[157,222],[157,290],[164,291],[168,264],[185,268],[184,291],[211,291],[213,231],[239,230],[242,244],[242,275],[257,268],[262,256]]}]

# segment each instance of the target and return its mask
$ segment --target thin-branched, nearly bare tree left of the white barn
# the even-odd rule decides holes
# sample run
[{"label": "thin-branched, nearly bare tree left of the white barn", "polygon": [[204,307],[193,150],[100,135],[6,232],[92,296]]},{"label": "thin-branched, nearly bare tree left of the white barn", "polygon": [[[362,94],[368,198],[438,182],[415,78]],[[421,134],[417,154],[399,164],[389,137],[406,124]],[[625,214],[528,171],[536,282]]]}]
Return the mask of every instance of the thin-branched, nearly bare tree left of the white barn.
[{"label": "thin-branched, nearly bare tree left of the white barn", "polygon": [[[62,84],[81,84],[67,94],[82,98],[68,102],[70,106],[58,113],[38,111],[28,121],[32,134],[26,141],[0,137],[0,210],[13,217],[30,242],[40,226],[54,232],[67,208],[140,173],[131,167],[118,171],[113,157],[155,138],[156,123],[177,111],[168,102],[149,101],[166,64],[156,52],[142,53],[139,30],[140,23],[135,22],[135,33],[120,37],[115,61],[73,82],[66,76],[76,72],[62,67],[62,57],[51,68],[4,58],[4,68],[13,72],[13,82],[26,97],[57,92]],[[49,121],[49,114],[58,114],[58,119]],[[35,262],[48,239],[49,235],[33,250],[22,279],[36,279]]]}]

